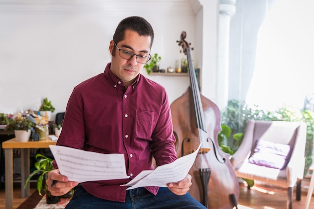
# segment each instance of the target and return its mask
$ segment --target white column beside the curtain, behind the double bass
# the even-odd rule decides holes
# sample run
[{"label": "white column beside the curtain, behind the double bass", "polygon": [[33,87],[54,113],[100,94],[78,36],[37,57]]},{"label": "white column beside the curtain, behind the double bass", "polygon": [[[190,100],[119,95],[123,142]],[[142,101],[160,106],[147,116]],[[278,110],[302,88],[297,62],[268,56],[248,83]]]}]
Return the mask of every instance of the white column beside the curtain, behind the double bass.
[{"label": "white column beside the curtain, behind the double bass", "polygon": [[217,61],[217,106],[223,111],[228,105],[230,20],[235,14],[236,0],[220,0]]}]

